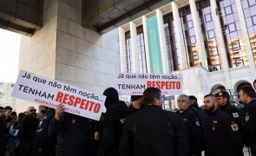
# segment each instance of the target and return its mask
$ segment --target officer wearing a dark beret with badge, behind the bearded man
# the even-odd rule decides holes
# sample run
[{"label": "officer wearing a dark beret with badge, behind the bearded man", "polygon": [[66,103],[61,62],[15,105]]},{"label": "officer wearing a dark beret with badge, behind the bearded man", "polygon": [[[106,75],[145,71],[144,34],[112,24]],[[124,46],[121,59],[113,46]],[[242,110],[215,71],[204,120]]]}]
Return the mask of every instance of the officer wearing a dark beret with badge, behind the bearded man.
[{"label": "officer wearing a dark beret with badge, behind the bearded man", "polygon": [[242,120],[240,118],[240,111],[229,102],[229,94],[226,91],[221,91],[220,93],[215,94],[215,96],[217,97],[221,111],[230,114],[233,117],[233,120],[236,120],[241,127]]}]

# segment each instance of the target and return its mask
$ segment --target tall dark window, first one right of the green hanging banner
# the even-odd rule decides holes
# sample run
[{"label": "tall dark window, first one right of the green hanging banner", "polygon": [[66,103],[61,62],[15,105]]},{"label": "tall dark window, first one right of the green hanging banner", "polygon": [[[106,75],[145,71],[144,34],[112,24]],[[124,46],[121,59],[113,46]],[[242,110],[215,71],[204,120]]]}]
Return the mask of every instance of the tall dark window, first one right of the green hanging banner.
[{"label": "tall dark window, first one right of the green hanging banner", "polygon": [[177,55],[177,42],[176,42],[176,33],[174,31],[174,16],[173,14],[167,14],[163,16],[164,30],[167,41],[167,54],[169,61],[169,70],[179,70],[179,62]]}]

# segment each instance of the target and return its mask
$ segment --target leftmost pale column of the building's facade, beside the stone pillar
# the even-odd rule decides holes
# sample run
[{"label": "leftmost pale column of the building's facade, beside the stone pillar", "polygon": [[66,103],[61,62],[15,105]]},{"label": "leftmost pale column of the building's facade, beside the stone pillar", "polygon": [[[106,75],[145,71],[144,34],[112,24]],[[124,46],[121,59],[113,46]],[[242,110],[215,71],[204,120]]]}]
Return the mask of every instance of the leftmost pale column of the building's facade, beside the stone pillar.
[{"label": "leftmost pale column of the building's facade, beside the stone pillar", "polygon": [[119,50],[120,50],[120,66],[121,73],[128,72],[127,71],[127,54],[126,54],[126,44],[125,44],[125,32],[124,29],[119,27]]}]

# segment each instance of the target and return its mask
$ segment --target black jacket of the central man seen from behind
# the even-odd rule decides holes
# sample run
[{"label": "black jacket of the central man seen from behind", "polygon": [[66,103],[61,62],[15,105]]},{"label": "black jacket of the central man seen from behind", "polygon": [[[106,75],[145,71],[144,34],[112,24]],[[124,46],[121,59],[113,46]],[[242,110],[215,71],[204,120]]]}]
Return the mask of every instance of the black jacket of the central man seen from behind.
[{"label": "black jacket of the central man seen from behind", "polygon": [[123,127],[121,156],[188,156],[187,132],[178,114],[149,105],[130,114]]}]

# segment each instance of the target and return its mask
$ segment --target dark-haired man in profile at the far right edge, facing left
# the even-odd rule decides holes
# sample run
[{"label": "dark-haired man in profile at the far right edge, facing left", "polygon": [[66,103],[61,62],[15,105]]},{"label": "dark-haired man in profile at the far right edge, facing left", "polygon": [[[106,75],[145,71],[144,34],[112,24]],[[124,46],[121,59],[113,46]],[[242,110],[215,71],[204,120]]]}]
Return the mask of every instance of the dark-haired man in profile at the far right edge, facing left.
[{"label": "dark-haired man in profile at the far right edge, facing left", "polygon": [[252,87],[246,86],[240,90],[240,101],[246,106],[243,111],[243,133],[245,145],[251,147],[251,153],[256,155],[256,94]]}]

